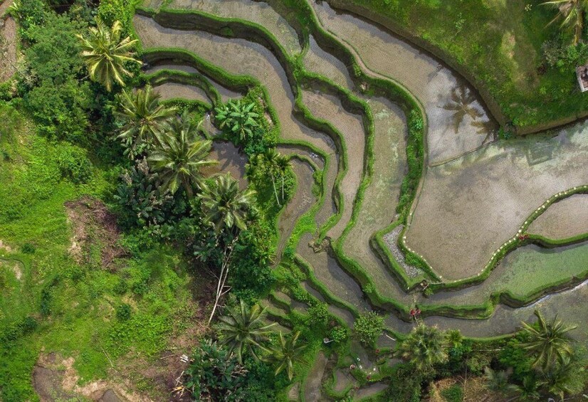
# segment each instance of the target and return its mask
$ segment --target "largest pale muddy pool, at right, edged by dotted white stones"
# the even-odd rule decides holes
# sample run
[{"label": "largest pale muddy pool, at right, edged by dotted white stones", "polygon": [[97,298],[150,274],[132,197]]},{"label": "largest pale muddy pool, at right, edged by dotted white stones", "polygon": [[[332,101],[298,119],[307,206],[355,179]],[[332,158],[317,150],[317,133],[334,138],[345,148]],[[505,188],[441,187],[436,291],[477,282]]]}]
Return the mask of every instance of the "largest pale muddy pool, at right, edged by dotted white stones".
[{"label": "largest pale muddy pool, at right, edged by dotted white stones", "polygon": [[586,184],[588,124],[491,144],[427,171],[407,243],[445,279],[477,275],[532,211]]}]

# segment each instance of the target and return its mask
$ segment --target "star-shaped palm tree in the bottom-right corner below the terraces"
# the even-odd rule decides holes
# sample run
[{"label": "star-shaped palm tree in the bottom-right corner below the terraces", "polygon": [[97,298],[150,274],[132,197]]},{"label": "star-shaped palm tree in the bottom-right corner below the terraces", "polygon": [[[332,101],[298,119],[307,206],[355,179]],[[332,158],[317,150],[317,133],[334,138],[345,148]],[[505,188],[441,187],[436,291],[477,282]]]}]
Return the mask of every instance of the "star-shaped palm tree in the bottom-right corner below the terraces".
[{"label": "star-shaped palm tree in the bottom-right corner below the terraces", "polygon": [[533,368],[540,367],[545,371],[549,366],[562,360],[566,356],[572,355],[572,339],[567,332],[576,328],[576,325],[566,326],[562,321],[555,317],[552,322],[547,323],[539,310],[535,310],[537,316],[537,327],[533,327],[523,322],[523,331],[529,334],[529,342],[521,344],[521,347],[527,349],[530,355],[535,356],[532,364]]}]

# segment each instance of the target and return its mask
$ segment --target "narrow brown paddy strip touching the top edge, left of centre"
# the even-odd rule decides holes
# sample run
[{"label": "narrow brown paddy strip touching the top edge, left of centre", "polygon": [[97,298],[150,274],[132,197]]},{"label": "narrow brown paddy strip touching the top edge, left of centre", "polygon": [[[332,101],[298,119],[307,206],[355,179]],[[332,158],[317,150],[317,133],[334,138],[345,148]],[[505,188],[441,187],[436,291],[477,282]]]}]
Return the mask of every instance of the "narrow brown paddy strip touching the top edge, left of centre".
[{"label": "narrow brown paddy strip touching the top edge, left of centre", "polygon": [[302,48],[298,34],[271,6],[253,0],[172,0],[170,9],[192,9],[214,14],[222,18],[240,18],[263,26],[270,31],[290,54],[300,53]]}]

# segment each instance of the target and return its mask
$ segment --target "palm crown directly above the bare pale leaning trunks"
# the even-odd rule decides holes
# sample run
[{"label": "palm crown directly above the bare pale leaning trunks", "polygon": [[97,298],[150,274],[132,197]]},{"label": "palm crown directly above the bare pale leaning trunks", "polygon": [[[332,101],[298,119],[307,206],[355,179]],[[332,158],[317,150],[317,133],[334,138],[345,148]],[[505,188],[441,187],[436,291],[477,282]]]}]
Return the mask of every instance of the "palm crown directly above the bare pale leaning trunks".
[{"label": "palm crown directly above the bare pale leaning trunks", "polygon": [[206,213],[206,221],[214,225],[216,233],[224,228],[246,230],[246,215],[253,203],[255,191],[239,190],[238,181],[231,174],[216,176],[213,184],[202,184],[199,197]]}]

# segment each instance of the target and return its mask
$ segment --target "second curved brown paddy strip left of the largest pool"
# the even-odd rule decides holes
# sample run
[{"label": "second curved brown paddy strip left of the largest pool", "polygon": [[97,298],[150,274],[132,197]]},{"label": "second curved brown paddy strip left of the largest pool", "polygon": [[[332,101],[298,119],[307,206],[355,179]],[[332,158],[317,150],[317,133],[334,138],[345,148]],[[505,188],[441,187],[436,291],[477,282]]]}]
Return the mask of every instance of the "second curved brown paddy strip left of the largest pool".
[{"label": "second curved brown paddy strip left of the largest pool", "polygon": [[341,236],[351,218],[353,200],[357,195],[364,171],[367,136],[362,116],[347,112],[337,97],[303,90],[303,100],[315,117],[330,122],[340,132],[347,147],[347,172],[340,186],[344,208],[340,220],[327,233],[327,236],[336,239]]}]

